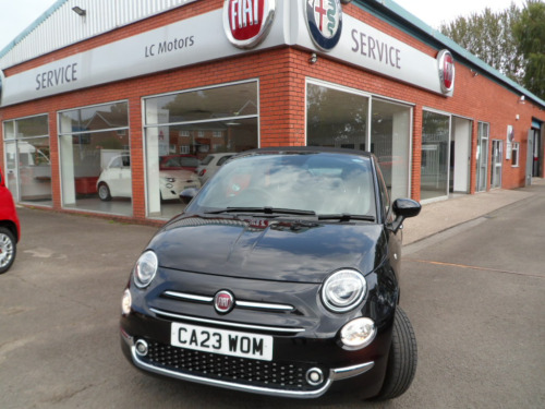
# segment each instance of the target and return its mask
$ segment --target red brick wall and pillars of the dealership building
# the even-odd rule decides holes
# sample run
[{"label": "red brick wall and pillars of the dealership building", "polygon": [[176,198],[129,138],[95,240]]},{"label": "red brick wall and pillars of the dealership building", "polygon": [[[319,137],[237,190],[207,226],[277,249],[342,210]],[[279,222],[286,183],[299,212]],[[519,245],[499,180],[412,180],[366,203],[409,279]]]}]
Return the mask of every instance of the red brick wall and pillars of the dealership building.
[{"label": "red brick wall and pillars of the dealership building", "polygon": [[[66,47],[53,53],[11,68],[5,70],[5,75],[10,76],[70,55],[129,37],[143,31],[153,29],[181,19],[220,8],[221,5],[221,0],[192,3],[187,7],[179,8],[144,22],[116,29],[88,41]],[[407,33],[373,17],[355,5],[349,5],[344,10],[386,34],[432,57],[436,57],[436,50],[419,43]],[[220,31],[218,31],[218,33],[220,33]],[[424,108],[433,108],[473,119],[473,153],[476,152],[477,121],[491,123],[491,141],[493,139],[505,141],[507,125],[513,125],[516,135],[514,141],[521,143],[521,167],[511,168],[511,163],[504,160],[502,187],[511,189],[523,185],[526,133],[531,127],[532,116],[545,121],[545,112],[538,110],[529,101],[519,104],[519,96],[517,94],[495,84],[483,75],[473,76],[469,68],[462,65],[460,62],[456,65],[455,96],[452,98],[446,98],[427,91],[398,83],[387,77],[382,77],[359,68],[330,60],[327,56],[319,56],[318,61],[312,64],[308,61],[310,57],[311,52],[308,51],[287,47],[246,53],[242,57],[172,70],[138,79],[131,79],[2,108],[0,109],[0,121],[38,113],[49,113],[53,207],[60,209],[61,196],[58,139],[55,136],[58,134],[57,111],[128,99],[131,128],[133,208],[134,218],[137,220],[145,220],[142,97],[249,79],[259,80],[261,146],[304,145],[305,79],[318,79],[362,89],[366,93],[415,104],[412,129],[413,158],[411,195],[413,199],[420,200],[422,112]],[[516,120],[516,115],[520,116],[520,120]],[[492,149],[492,143],[489,145]],[[0,154],[2,154],[0,156],[2,158],[1,160],[3,160],[2,149],[3,146],[0,145]],[[475,168],[476,164],[473,154],[471,160],[472,193],[475,190]]]}]

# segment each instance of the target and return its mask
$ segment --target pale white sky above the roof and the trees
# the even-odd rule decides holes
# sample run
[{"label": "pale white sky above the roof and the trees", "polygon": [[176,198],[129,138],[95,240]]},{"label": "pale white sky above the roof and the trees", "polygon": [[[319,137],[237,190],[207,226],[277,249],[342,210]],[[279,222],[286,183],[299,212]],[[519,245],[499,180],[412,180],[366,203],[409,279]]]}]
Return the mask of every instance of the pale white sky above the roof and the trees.
[{"label": "pale white sky above the roof and the trees", "polygon": [[[57,0],[0,0],[0,50],[28,27]],[[506,10],[513,1],[523,7],[525,0],[395,0],[429,26],[438,28],[441,22],[480,13],[486,7],[493,11]]]}]

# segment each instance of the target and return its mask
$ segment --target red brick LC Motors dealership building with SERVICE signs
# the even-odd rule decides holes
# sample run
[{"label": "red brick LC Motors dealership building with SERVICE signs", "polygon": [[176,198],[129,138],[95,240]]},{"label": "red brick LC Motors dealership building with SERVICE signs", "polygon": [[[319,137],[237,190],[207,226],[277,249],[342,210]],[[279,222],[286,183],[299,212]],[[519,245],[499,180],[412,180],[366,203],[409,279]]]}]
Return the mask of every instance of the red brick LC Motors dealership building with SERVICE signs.
[{"label": "red brick LC Motors dealership building with SERVICE signs", "polygon": [[166,159],[256,147],[368,151],[423,203],[544,172],[545,101],[391,0],[59,0],[0,51],[0,122],[17,203],[137,221],[199,184]]}]

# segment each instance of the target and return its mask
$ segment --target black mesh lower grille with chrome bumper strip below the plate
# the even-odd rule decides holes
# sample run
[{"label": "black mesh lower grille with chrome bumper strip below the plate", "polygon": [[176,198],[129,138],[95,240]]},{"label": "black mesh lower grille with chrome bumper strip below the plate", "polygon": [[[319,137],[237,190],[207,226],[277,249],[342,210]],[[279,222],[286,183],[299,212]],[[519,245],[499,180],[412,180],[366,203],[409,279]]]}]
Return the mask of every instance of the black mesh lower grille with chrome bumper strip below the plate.
[{"label": "black mesh lower grille with chrome bumper strip below the plate", "polygon": [[361,375],[375,365],[375,362],[371,361],[331,368],[324,373],[319,385],[312,386],[304,380],[310,371],[322,373],[319,366],[255,362],[250,359],[184,350],[157,341],[146,341],[148,352],[143,356],[136,349],[136,339],[123,329],[121,339],[125,356],[141,370],[182,381],[277,397],[317,398],[324,395],[335,381]]}]

